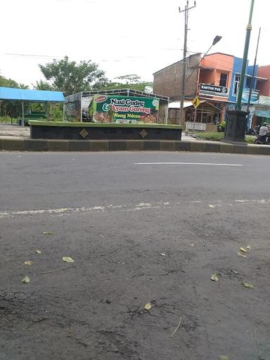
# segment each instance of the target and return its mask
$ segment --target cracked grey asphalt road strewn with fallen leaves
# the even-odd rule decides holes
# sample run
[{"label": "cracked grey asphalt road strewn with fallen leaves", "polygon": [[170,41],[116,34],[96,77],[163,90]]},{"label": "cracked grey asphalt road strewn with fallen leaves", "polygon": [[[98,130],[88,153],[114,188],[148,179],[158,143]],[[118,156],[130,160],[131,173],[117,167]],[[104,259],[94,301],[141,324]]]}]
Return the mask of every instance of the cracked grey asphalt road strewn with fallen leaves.
[{"label": "cracked grey asphalt road strewn with fallen leaves", "polygon": [[269,164],[0,153],[0,360],[269,360]]}]

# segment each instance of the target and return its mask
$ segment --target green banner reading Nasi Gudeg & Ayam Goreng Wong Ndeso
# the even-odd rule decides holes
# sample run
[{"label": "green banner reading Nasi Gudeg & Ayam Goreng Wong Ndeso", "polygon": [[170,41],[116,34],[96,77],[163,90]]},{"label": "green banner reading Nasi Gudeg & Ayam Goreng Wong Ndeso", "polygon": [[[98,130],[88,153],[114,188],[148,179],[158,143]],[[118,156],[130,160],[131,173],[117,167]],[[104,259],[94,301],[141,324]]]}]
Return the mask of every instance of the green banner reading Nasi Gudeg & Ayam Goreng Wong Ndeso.
[{"label": "green banner reading Nasi Gudeg & Ayam Goreng Wong Ndeso", "polygon": [[156,124],[159,105],[158,98],[97,94],[93,99],[93,120],[117,124]]}]

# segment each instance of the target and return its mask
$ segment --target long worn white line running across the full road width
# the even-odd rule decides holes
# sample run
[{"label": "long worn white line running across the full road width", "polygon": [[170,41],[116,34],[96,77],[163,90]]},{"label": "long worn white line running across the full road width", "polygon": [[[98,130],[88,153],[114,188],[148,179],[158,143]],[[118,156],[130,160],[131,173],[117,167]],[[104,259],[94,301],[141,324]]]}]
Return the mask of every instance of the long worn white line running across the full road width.
[{"label": "long worn white line running across the full road width", "polygon": [[169,203],[169,202],[160,202],[160,203],[139,203],[135,204],[122,204],[122,205],[98,205],[93,207],[61,207],[59,209],[41,209],[41,210],[21,210],[21,211],[6,211],[0,212],[0,219],[4,217],[20,217],[20,216],[34,216],[48,214],[52,217],[61,217],[65,215],[78,215],[78,214],[97,214],[105,213],[110,211],[119,211],[119,212],[136,212],[141,210],[151,210],[151,209],[171,209],[172,207],[184,207],[185,205],[196,205],[196,206],[207,206],[207,207],[223,207],[223,206],[236,206],[236,205],[270,205],[270,199],[252,199],[252,200],[231,200],[232,203],[226,203],[221,200],[208,203],[206,200],[187,200],[183,203]]}]

